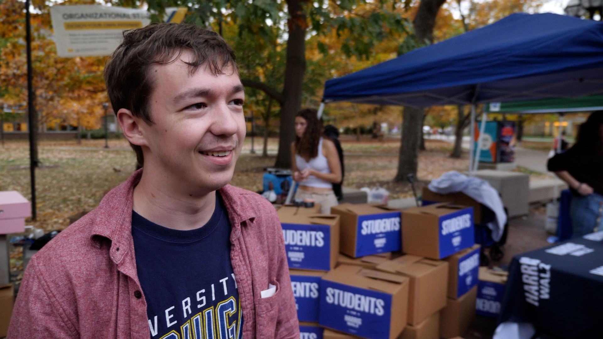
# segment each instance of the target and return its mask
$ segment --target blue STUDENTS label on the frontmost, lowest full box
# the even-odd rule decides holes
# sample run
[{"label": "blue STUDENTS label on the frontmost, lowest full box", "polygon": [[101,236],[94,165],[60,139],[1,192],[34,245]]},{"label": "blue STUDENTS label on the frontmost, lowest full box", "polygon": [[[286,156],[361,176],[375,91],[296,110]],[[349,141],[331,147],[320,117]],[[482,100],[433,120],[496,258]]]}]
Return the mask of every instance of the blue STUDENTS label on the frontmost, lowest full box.
[{"label": "blue STUDENTS label on the frontmost, lowest full box", "polygon": [[320,325],[359,337],[390,338],[391,294],[320,282]]}]

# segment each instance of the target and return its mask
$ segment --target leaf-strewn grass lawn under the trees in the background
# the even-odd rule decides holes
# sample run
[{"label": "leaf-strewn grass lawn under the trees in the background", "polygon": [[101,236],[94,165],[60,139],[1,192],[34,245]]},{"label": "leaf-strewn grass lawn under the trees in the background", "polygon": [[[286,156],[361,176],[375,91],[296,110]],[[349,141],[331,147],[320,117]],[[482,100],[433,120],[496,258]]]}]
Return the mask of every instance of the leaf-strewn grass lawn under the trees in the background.
[{"label": "leaf-strewn grass lawn under the trees in the background", "polygon": [[[467,169],[467,156],[451,159],[450,144],[428,140],[428,151],[422,151],[418,160],[418,177],[431,180],[446,171]],[[360,188],[376,184],[391,192],[390,198],[411,194],[405,183],[393,183],[398,163],[399,139],[373,141],[371,139],[342,138],[346,177],[344,185]],[[95,208],[107,191],[123,182],[134,170],[134,153],[124,139],[41,141],[40,168],[36,170],[37,220],[28,221],[46,231],[64,229],[69,216]],[[251,191],[262,189],[265,167],[274,165],[278,140],[269,139],[269,156],[262,157],[262,139],[256,138],[250,154],[250,138],[245,139],[232,184]],[[19,191],[30,199],[29,146],[27,141],[8,141],[0,148],[0,191]]]}]

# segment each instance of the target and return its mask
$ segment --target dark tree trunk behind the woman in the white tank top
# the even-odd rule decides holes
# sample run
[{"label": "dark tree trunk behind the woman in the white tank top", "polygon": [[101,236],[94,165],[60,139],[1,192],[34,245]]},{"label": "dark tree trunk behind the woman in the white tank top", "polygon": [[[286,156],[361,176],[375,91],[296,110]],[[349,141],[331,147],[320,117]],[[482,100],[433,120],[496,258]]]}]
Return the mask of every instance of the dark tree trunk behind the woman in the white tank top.
[{"label": "dark tree trunk behind the woman in the white tank top", "polygon": [[280,110],[279,153],[274,166],[291,168],[291,143],[295,139],[295,114],[300,110],[306,71],[306,14],[300,0],[287,0],[289,39],[285,66],[284,103]]}]

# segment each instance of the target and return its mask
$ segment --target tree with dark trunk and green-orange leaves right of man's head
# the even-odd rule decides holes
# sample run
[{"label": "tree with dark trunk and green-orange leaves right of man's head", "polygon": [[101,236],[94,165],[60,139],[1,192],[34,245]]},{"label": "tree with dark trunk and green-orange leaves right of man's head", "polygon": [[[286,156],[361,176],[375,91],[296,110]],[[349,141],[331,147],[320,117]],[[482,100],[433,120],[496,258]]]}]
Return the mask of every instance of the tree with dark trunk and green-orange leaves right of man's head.
[{"label": "tree with dark trunk and green-orange leaves right of man's head", "polygon": [[[151,2],[149,9],[161,12],[167,6],[188,4],[180,0]],[[295,136],[294,116],[301,107],[305,87],[306,39],[332,32],[338,35],[349,33],[350,37],[342,46],[345,54],[367,57],[377,42],[405,31],[405,21],[392,10],[395,4],[366,0],[212,0],[193,5],[186,21],[214,30],[219,25],[232,22],[238,28],[236,39],[243,39],[251,45],[262,45],[262,48],[274,48],[276,45],[276,48],[284,51],[283,73],[280,78],[275,78],[278,84],[246,77],[242,77],[242,82],[247,87],[264,91],[279,104],[279,154],[275,166],[288,168],[291,166],[290,144]],[[283,28],[282,32],[275,34],[280,27]],[[267,68],[270,68],[270,62],[259,60]],[[241,68],[244,67],[245,62],[241,62]]]}]

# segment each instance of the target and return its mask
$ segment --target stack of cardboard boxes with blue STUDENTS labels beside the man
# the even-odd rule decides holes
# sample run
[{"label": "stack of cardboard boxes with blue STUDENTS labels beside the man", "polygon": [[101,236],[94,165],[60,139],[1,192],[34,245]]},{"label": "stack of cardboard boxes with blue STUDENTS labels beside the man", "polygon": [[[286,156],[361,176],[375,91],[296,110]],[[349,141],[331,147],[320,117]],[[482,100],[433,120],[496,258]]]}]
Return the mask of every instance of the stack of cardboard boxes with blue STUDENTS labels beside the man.
[{"label": "stack of cardboard boxes with blue STUDENTS labels beside the man", "polygon": [[[315,212],[279,210],[301,338],[437,339],[469,329],[479,266],[473,208],[341,204],[332,215]],[[305,232],[323,233],[321,249]]]}]

